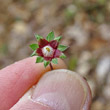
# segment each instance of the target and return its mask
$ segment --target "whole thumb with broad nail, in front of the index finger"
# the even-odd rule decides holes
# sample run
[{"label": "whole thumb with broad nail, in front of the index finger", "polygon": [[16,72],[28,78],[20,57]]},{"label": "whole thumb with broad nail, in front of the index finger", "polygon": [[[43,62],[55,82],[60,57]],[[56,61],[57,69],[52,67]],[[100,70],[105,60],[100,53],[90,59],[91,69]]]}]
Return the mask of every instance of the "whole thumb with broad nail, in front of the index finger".
[{"label": "whole thumb with broad nail, in front of the index finger", "polygon": [[89,110],[90,104],[87,82],[75,72],[59,69],[47,72],[31,96],[24,96],[10,110]]}]

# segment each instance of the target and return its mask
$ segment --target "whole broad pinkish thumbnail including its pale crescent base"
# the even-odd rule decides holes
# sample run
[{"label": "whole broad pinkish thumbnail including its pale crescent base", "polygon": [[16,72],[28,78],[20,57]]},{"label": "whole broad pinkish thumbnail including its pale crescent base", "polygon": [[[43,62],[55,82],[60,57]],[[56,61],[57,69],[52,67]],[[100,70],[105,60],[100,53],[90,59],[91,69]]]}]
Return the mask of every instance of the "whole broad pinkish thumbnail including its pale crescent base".
[{"label": "whole broad pinkish thumbnail including its pale crescent base", "polygon": [[32,100],[53,110],[80,110],[88,97],[83,80],[66,69],[50,71],[37,84]]}]

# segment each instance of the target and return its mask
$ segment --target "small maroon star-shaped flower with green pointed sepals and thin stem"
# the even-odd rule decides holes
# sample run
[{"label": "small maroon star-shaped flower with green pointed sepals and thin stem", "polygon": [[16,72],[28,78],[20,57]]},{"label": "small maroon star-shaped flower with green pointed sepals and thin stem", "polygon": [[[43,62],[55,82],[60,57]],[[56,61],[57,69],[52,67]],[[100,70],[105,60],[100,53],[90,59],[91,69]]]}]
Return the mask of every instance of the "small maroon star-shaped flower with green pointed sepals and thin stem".
[{"label": "small maroon star-shaped flower with green pointed sepals and thin stem", "polygon": [[66,58],[63,51],[65,51],[68,47],[64,45],[59,45],[59,41],[61,40],[61,36],[54,37],[54,32],[50,32],[46,39],[42,36],[35,35],[38,44],[31,44],[30,47],[34,52],[31,56],[38,56],[36,58],[36,63],[44,62],[44,66],[48,66],[51,62],[54,64],[58,64],[57,58]]}]

